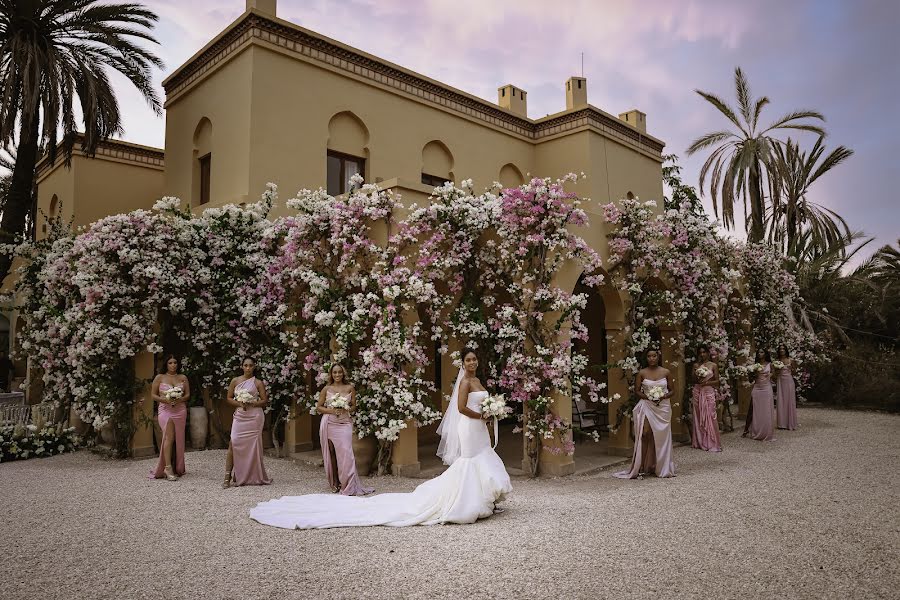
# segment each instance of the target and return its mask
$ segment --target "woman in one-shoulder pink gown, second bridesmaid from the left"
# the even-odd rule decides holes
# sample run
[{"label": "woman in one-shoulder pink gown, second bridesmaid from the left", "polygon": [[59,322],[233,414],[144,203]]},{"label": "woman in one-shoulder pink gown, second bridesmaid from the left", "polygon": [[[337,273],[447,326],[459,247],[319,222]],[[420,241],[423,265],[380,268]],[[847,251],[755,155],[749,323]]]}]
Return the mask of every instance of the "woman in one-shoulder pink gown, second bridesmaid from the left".
[{"label": "woman in one-shoulder pink gown, second bridesmaid from the left", "polygon": [[[225,455],[225,481],[222,487],[232,485],[268,485],[272,483],[263,464],[262,429],[266,421],[263,407],[269,403],[266,386],[253,372],[256,363],[250,357],[241,363],[244,374],[231,380],[226,402],[235,407],[231,423],[231,443]],[[248,392],[252,402],[241,403],[234,399],[238,392]]]}]

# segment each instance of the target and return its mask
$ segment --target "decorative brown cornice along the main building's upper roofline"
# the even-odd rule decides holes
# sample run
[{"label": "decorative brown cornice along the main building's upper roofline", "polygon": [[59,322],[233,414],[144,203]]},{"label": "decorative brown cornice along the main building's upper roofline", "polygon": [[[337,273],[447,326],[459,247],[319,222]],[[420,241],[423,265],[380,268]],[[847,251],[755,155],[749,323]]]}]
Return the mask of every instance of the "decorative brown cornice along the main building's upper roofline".
[{"label": "decorative brown cornice along the main building's upper roofline", "polygon": [[537,141],[578,127],[590,126],[653,155],[661,155],[665,147],[660,140],[641,133],[593,106],[538,121],[520,117],[486,100],[364,54],[293,23],[273,20],[255,11],[245,13],[206,48],[166,78],[163,81],[166,97],[174,98],[253,40],[273,44],[306,60],[324,63],[332,69],[394,88],[530,140]]}]

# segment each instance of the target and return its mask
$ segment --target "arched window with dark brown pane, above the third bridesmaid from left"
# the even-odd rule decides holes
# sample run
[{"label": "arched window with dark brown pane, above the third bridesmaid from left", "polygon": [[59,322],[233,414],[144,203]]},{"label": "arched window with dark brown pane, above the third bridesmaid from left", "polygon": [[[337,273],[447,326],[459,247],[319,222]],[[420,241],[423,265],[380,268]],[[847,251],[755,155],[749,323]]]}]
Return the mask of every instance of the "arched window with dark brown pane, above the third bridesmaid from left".
[{"label": "arched window with dark brown pane, above the third bridesmaid from left", "polygon": [[352,112],[331,117],[328,122],[327,187],[337,196],[347,192],[354,175],[366,176],[369,130]]}]

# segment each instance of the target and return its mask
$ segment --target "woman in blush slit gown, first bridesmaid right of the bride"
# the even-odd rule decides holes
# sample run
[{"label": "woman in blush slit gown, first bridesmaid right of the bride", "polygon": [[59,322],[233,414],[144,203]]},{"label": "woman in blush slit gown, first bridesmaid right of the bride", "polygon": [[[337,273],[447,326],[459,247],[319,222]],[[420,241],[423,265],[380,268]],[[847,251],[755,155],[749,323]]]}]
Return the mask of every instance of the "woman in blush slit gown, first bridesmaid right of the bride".
[{"label": "woman in blush slit gown, first bridesmaid right of the bride", "polygon": [[[657,477],[674,477],[672,461],[672,374],[660,365],[659,350],[647,351],[647,368],[641,369],[634,383],[640,400],[634,407],[634,455],[627,471],[614,473],[620,479],[642,479],[644,473]],[[660,387],[665,392],[659,404],[650,400],[650,388]]]}]

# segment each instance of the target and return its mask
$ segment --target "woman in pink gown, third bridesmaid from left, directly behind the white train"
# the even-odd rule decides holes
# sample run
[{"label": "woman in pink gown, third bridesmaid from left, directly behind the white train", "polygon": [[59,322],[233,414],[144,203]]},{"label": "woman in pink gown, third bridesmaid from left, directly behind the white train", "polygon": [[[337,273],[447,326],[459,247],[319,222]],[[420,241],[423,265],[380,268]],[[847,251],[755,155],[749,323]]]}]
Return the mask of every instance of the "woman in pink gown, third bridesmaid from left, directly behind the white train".
[{"label": "woman in pink gown, third bridesmaid from left, directly behind the white train", "polygon": [[[350,407],[331,408],[335,396],[348,399]],[[322,460],[328,484],[335,494],[344,496],[365,496],[375,490],[363,487],[356,473],[356,458],[353,456],[353,421],[350,414],[356,410],[356,390],[350,383],[347,372],[341,365],[331,366],[328,385],[319,393],[316,411],[322,415],[319,425],[319,440],[322,443]]]}]

